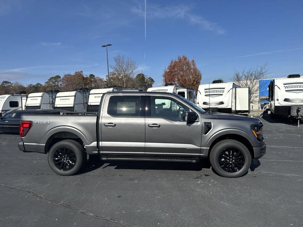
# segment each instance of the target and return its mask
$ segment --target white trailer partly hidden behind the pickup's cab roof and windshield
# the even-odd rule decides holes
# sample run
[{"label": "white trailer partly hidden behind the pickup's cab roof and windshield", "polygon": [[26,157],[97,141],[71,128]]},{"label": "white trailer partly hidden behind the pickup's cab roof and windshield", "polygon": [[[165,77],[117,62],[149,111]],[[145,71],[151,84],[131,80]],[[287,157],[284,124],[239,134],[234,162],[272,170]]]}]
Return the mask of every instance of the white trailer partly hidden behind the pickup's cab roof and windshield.
[{"label": "white trailer partly hidden behind the pickup's cab roof and windshield", "polygon": [[193,88],[179,87],[174,84],[165,84],[164,87],[150,87],[147,91],[175,93],[181,95],[192,103],[196,103],[196,90]]}]

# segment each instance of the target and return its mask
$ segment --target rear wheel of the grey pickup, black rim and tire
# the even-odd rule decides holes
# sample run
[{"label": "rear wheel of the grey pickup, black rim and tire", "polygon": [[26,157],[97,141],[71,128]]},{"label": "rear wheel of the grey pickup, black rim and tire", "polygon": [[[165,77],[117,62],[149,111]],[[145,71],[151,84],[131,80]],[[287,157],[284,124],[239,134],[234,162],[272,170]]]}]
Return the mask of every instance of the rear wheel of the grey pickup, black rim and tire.
[{"label": "rear wheel of the grey pickup, black rim and tire", "polygon": [[84,156],[85,152],[80,143],[74,140],[62,140],[49,150],[48,164],[58,175],[72,176],[84,165],[86,161]]}]

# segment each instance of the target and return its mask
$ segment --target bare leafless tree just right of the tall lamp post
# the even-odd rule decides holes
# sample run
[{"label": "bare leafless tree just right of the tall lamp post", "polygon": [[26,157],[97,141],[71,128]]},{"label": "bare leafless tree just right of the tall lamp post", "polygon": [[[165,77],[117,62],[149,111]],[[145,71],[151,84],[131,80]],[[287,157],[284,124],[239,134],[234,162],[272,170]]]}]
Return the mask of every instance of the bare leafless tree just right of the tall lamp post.
[{"label": "bare leafless tree just right of the tall lamp post", "polygon": [[110,65],[115,77],[110,78],[114,80],[115,85],[121,85],[123,87],[129,87],[134,83],[134,77],[137,73],[138,65],[132,60],[132,58],[125,59],[124,56],[117,55],[115,58],[115,64]]}]

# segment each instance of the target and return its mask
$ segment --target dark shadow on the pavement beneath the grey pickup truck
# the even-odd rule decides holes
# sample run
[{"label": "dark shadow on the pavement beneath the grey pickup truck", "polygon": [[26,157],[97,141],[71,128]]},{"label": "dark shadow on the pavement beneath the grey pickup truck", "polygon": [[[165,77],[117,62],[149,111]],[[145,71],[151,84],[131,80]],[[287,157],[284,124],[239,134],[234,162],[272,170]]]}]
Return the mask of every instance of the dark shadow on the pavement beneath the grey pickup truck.
[{"label": "dark shadow on the pavement beneath the grey pickup truck", "polygon": [[[250,170],[254,171],[260,166],[260,162],[254,164],[251,161]],[[118,161],[108,160],[102,161],[100,158],[88,159],[85,167],[79,172],[79,175],[92,172],[96,169],[106,169],[114,167],[114,169],[133,169],[133,170],[183,170],[183,171],[201,171],[203,169],[212,169],[209,160],[201,160],[198,163],[182,163],[182,162],[157,162],[157,161]],[[212,172],[215,173],[215,171]],[[217,174],[217,173],[216,173]]]}]

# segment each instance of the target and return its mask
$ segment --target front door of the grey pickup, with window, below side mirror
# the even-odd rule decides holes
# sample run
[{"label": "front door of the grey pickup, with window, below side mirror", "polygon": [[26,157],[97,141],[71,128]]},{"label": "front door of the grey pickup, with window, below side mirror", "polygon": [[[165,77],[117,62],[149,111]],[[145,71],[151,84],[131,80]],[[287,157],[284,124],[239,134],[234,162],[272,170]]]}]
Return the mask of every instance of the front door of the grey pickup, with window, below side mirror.
[{"label": "front door of the grey pickup, with window, below side mirror", "polygon": [[[146,96],[145,155],[199,156],[202,126],[185,121],[187,104],[175,97]],[[192,110],[191,110],[192,111]]]}]

